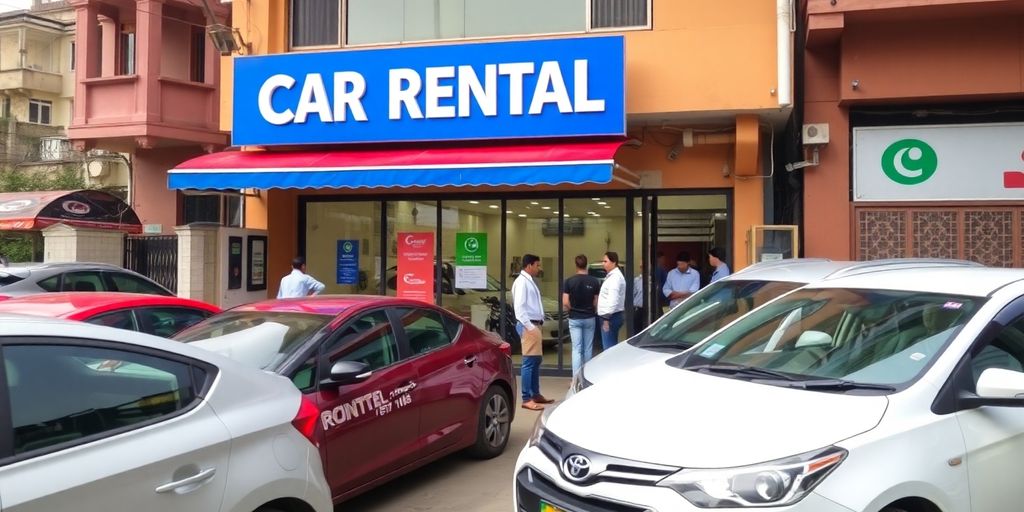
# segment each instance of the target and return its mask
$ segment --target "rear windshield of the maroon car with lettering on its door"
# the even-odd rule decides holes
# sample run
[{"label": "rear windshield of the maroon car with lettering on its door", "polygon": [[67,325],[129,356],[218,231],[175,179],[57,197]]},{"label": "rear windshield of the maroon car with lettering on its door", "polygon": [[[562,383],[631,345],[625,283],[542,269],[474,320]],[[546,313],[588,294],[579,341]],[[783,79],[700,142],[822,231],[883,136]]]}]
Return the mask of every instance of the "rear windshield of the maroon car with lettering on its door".
[{"label": "rear windshield of the maroon car with lettering on its door", "polygon": [[174,336],[248,366],[276,371],[334,316],[302,312],[226,311]]}]

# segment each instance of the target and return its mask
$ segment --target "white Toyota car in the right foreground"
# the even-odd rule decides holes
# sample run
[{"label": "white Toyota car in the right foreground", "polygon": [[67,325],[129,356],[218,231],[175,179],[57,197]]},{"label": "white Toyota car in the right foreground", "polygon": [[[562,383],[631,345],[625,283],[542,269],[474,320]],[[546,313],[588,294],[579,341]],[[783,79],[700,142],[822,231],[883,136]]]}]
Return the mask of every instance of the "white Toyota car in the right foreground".
[{"label": "white Toyota car in the right foreground", "polygon": [[549,408],[514,510],[1007,512],[1022,460],[1024,270],[879,270]]}]

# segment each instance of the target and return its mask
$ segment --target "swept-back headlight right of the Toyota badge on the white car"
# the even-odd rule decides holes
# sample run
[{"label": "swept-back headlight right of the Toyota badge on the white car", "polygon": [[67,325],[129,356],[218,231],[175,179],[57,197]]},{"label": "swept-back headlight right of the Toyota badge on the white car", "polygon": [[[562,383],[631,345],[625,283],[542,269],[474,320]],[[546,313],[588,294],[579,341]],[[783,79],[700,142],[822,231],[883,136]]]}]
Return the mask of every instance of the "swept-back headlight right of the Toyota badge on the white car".
[{"label": "swept-back headlight right of the Toyota badge on the white car", "polygon": [[700,508],[778,507],[799,502],[846,459],[837,446],[727,469],[684,469],[657,484]]}]

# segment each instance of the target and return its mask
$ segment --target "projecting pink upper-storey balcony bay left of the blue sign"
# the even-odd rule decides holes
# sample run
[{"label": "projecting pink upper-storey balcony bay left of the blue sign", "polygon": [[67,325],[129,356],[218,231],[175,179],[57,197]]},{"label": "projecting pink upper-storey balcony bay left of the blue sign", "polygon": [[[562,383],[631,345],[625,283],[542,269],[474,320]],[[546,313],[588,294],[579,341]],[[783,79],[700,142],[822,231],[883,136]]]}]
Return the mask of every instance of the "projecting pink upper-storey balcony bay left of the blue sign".
[{"label": "projecting pink upper-storey balcony bay left of the blue sign", "polygon": [[197,4],[72,4],[80,66],[68,135],[77,150],[227,145],[227,133],[219,129],[219,55]]}]

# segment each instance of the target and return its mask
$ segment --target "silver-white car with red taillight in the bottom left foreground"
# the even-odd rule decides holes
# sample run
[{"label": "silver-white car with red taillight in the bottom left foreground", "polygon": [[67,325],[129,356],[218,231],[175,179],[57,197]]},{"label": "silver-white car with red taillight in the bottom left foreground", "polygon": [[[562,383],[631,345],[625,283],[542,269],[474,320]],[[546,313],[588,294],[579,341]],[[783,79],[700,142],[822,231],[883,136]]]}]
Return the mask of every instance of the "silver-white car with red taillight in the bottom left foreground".
[{"label": "silver-white car with red taillight in the bottom left foreground", "polygon": [[[329,512],[317,411],[183,343],[0,316],[0,509]],[[9,404],[9,407],[7,407]]]}]

